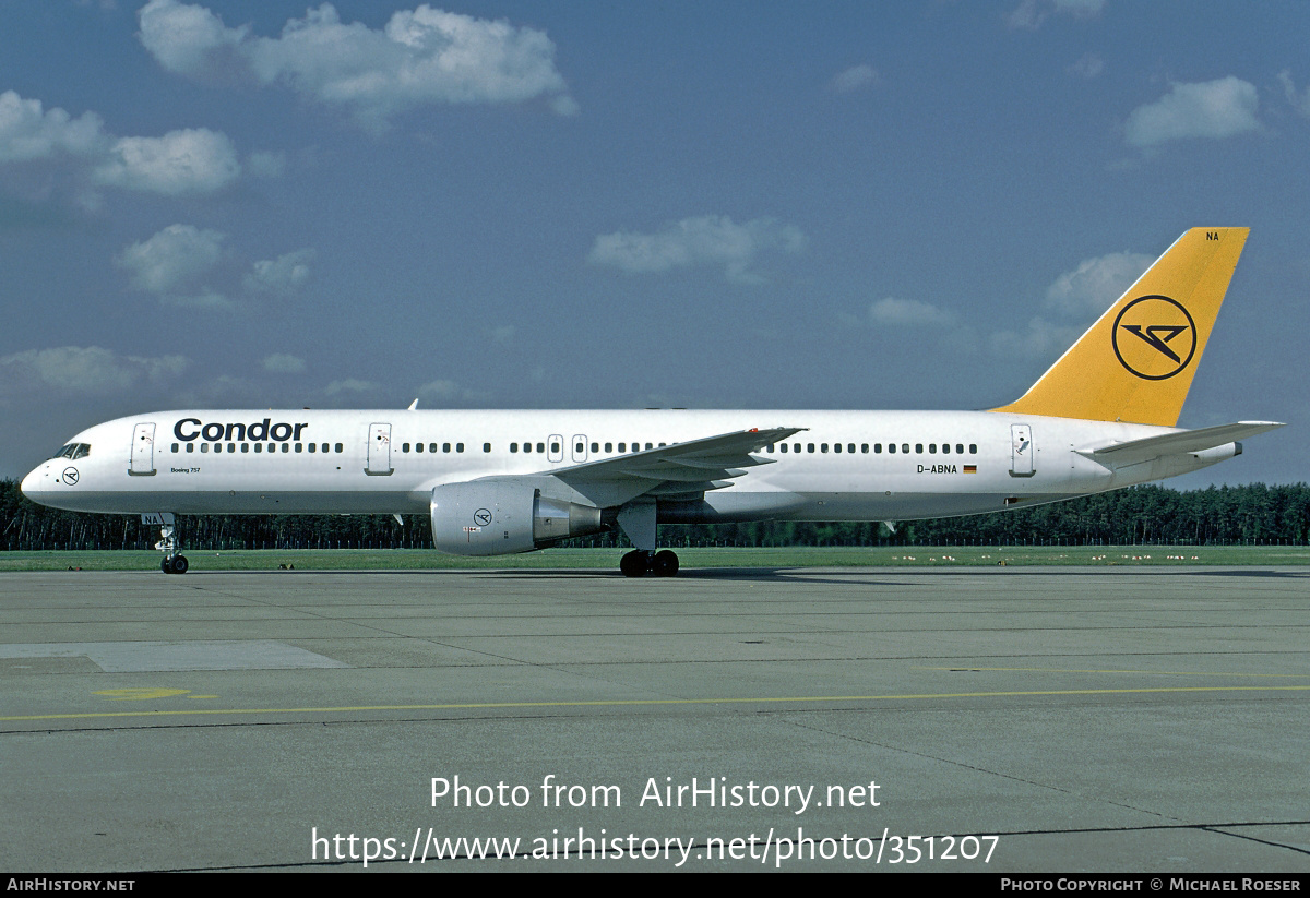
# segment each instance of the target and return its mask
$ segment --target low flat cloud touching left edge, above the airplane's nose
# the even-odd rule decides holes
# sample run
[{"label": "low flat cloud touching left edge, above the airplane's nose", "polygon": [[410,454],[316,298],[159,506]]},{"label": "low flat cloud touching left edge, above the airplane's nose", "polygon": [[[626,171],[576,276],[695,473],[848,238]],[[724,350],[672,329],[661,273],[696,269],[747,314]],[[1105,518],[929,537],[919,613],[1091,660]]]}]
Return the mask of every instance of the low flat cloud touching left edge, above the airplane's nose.
[{"label": "low flat cloud touching left edge, above the airplane's nose", "polygon": [[110,395],[141,385],[166,385],[187,367],[186,356],[121,356],[98,346],[26,350],[0,357],[0,394]]}]

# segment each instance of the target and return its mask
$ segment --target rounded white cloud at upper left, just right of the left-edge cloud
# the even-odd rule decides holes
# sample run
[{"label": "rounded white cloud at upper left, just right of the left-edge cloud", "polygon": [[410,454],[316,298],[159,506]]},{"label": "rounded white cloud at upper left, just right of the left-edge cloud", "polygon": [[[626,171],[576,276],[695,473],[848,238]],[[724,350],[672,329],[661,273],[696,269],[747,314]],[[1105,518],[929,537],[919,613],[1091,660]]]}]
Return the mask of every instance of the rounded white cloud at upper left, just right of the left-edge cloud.
[{"label": "rounded white cloud at upper left, just right of the left-edge cloud", "polygon": [[92,178],[110,187],[179,196],[211,194],[240,174],[241,164],[227,135],[186,128],[162,137],[121,137]]}]

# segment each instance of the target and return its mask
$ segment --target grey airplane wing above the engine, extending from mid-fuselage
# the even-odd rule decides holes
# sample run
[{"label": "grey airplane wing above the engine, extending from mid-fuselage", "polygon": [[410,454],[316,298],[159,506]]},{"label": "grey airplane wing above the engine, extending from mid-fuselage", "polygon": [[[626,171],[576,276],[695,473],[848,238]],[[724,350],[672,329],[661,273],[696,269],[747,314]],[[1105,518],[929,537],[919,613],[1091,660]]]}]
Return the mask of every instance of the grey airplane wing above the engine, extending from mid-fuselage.
[{"label": "grey airplane wing above the engine, extending from mid-fuselage", "polygon": [[751,467],[772,465],[774,459],[751,453],[804,429],[774,427],[722,433],[555,469],[550,474],[601,508],[622,505],[638,496],[700,499],[709,490],[731,486],[734,478],[745,475]]}]

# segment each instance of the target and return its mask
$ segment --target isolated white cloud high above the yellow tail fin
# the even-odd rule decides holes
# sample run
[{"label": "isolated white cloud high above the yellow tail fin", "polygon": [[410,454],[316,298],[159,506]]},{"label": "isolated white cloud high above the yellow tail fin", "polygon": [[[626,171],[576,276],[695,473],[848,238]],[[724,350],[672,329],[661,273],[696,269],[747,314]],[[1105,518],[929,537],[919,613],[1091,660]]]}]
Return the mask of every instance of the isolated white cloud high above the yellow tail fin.
[{"label": "isolated white cloud high above the yellow tail fin", "polygon": [[1174,84],[1154,103],[1128,117],[1124,136],[1133,147],[1154,147],[1184,137],[1231,137],[1259,131],[1255,85],[1227,76],[1200,84]]}]

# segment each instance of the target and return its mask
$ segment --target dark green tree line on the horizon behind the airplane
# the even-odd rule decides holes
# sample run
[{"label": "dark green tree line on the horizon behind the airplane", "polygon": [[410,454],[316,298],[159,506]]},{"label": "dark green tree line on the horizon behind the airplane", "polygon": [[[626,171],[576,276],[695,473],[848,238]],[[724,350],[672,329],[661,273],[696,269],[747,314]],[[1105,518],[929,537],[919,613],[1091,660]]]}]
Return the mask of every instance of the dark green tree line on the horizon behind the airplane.
[{"label": "dark green tree line on the horizon behind the airplane", "polygon": [[[430,548],[426,514],[403,524],[381,514],[179,514],[183,550]],[[0,551],[152,548],[159,529],[138,514],[84,514],[29,501],[17,480],[0,480]],[[1307,545],[1310,486],[1141,486],[996,514],[879,522],[760,521],[664,525],[660,543],[694,546],[972,546],[972,545]],[[571,546],[621,547],[622,534]]]}]

